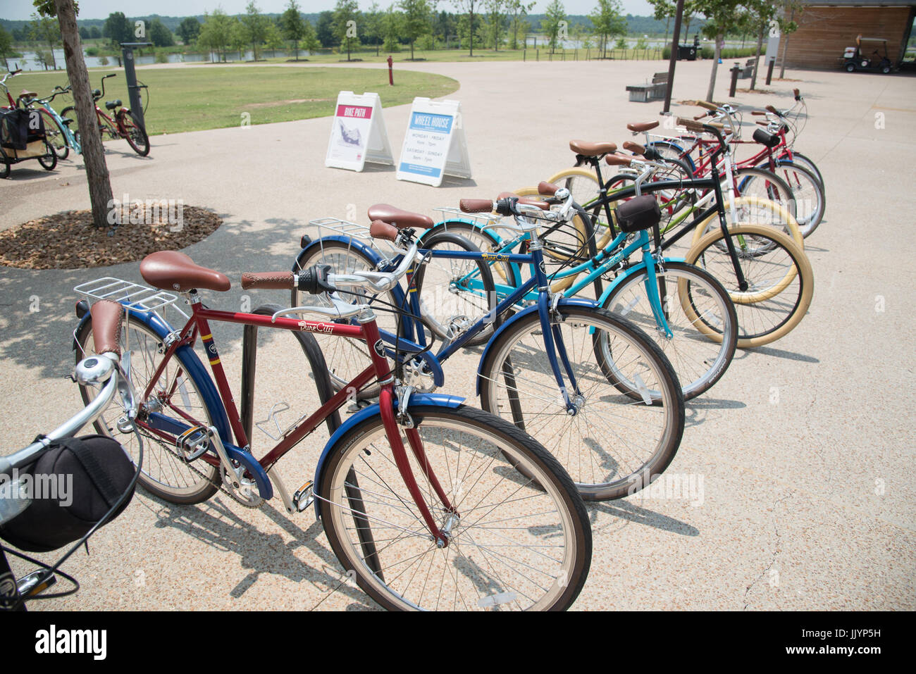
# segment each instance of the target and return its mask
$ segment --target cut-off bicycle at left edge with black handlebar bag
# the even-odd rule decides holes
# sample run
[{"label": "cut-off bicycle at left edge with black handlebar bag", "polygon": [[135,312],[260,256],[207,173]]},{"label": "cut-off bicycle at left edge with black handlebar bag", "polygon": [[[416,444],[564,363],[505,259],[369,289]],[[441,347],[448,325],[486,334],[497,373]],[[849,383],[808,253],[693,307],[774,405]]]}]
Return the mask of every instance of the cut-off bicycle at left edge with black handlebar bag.
[{"label": "cut-off bicycle at left edge with black handlebar bag", "polygon": [[[123,419],[122,428],[125,429],[125,432],[130,432],[134,429],[134,419],[136,419],[137,411],[136,398],[134,397],[130,379],[122,367],[121,352],[116,343],[116,332],[119,329],[122,315],[123,310],[120,305],[114,304],[114,302],[97,303],[93,305],[91,310],[91,321],[94,332],[100,338],[101,353],[97,356],[83,358],[76,366],[73,380],[81,386],[98,386],[100,388],[93,401],[57,429],[52,430],[47,435],[39,435],[27,448],[8,456],[0,456],[0,476],[8,480],[8,482],[5,482],[3,489],[0,490],[0,526],[8,526],[16,516],[27,512],[27,508],[32,505],[32,497],[36,496],[34,494],[29,495],[26,491],[23,491],[18,478],[20,472],[26,472],[46,452],[52,450],[60,440],[74,436],[84,426],[98,419],[104,409],[113,404],[120,409],[119,416]],[[115,397],[119,398],[118,402],[115,402]],[[46,538],[48,541],[45,549],[57,549],[67,543],[72,543],[74,540],[76,541],[59,560],[50,565],[45,564],[22,552],[17,552],[0,544],[0,611],[25,611],[26,602],[28,601],[55,599],[79,591],[80,583],[71,575],[60,571],[60,567],[70,558],[73,552],[86,543],[99,527],[112,521],[127,505],[127,501],[133,495],[134,486],[140,474],[140,467],[143,465],[142,440],[137,438],[137,441],[139,443],[136,460],[137,468],[133,478],[127,484],[125,491],[118,495],[116,487],[114,487],[113,477],[110,474],[105,475],[105,478],[113,486],[113,495],[109,495],[108,498],[114,503],[105,508],[104,515],[97,522],[93,525],[86,524],[83,527],[87,530],[82,536],[79,531],[76,533],[70,532],[68,535],[63,535],[59,532],[38,532],[38,537]],[[107,467],[96,467],[97,471],[105,471],[106,469]],[[101,498],[100,501],[102,501]],[[110,501],[108,499],[102,502],[105,506],[109,506]],[[45,515],[45,513],[42,515]],[[43,522],[42,524],[47,526],[47,523]],[[5,533],[0,530],[0,535]],[[61,536],[67,539],[67,543],[60,544],[59,538]],[[16,579],[7,560],[7,554],[26,560],[40,568],[38,571],[32,571]],[[70,582],[71,588],[62,592],[47,592],[50,587],[58,582],[58,576]]]}]

